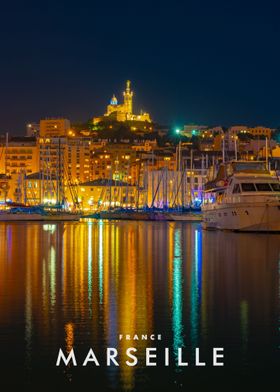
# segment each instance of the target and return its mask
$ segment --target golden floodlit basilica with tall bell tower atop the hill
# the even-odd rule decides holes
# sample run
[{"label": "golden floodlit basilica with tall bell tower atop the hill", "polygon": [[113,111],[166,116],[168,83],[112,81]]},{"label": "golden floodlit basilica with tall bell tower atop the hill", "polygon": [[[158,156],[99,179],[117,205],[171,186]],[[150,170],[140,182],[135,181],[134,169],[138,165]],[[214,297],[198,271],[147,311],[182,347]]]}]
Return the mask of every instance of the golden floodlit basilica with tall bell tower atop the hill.
[{"label": "golden floodlit basilica with tall bell tower atop the hill", "polygon": [[93,124],[95,125],[108,121],[152,122],[149,113],[133,113],[133,91],[130,89],[130,80],[126,82],[126,89],[123,92],[123,103],[119,104],[116,96],[113,95],[110,104],[107,106],[107,112],[103,116],[93,118]]}]

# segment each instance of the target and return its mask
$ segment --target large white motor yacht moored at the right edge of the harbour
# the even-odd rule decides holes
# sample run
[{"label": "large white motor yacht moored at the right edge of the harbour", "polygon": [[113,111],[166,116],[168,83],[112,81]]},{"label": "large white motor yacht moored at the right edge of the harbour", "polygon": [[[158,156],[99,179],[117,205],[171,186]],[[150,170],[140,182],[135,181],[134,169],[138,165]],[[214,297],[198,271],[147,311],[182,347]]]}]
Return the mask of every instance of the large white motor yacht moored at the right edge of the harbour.
[{"label": "large white motor yacht moored at the right edge of the harbour", "polygon": [[280,182],[265,162],[233,161],[205,185],[203,228],[280,231]]}]

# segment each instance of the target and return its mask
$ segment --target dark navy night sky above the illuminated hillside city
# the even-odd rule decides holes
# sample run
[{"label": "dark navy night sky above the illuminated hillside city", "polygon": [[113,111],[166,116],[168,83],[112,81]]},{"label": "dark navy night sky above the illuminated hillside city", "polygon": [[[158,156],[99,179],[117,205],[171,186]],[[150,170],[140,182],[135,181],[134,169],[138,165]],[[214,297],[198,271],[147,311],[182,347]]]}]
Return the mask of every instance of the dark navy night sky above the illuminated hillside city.
[{"label": "dark navy night sky above the illuminated hillside city", "polygon": [[103,114],[132,81],[163,124],[280,125],[278,1],[6,1],[0,133]]}]

